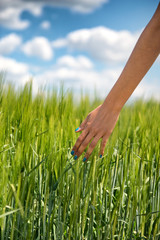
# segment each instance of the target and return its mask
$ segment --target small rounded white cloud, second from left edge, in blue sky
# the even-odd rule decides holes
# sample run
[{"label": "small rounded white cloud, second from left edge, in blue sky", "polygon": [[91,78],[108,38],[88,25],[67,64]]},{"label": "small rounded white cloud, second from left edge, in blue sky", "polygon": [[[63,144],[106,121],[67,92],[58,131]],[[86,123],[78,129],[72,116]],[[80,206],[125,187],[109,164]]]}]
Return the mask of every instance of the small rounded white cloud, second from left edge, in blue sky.
[{"label": "small rounded white cloud, second from left edge, in blue sky", "polygon": [[22,46],[22,51],[28,56],[35,56],[43,60],[51,60],[53,50],[45,37],[36,37]]}]

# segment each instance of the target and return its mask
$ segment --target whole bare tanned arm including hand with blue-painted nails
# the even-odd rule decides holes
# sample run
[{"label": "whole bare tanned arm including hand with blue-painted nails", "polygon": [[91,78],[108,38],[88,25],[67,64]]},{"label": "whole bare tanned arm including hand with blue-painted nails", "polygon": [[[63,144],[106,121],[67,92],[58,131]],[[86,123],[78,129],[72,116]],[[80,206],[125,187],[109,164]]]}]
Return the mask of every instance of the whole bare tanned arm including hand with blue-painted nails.
[{"label": "whole bare tanned arm including hand with blue-painted nails", "polygon": [[77,159],[89,145],[83,161],[87,161],[99,139],[102,139],[100,157],[119,118],[120,111],[139,82],[160,53],[160,3],[152,19],[142,32],[120,77],[104,100],[93,110],[76,132],[82,131],[72,155]]}]

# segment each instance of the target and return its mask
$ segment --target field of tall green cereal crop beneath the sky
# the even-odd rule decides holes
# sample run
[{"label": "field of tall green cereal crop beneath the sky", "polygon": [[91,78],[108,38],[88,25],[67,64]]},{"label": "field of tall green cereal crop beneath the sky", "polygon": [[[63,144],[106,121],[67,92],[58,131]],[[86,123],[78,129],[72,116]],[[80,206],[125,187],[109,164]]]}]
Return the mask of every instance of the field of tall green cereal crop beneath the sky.
[{"label": "field of tall green cereal crop beneath the sky", "polygon": [[[100,104],[0,84],[0,239],[160,239],[160,103],[126,105],[84,163],[75,128]],[[107,124],[107,123],[106,123]]]}]

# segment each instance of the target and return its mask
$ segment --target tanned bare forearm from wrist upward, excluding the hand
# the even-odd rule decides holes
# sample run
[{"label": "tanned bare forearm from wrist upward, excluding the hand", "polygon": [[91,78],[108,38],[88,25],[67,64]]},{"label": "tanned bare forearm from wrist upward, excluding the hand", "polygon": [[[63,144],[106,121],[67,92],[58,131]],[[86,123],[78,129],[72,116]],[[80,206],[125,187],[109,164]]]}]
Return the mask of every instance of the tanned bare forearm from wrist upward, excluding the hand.
[{"label": "tanned bare forearm from wrist upward, excluding the hand", "polygon": [[119,79],[104,101],[121,110],[160,53],[160,4],[141,34]]}]

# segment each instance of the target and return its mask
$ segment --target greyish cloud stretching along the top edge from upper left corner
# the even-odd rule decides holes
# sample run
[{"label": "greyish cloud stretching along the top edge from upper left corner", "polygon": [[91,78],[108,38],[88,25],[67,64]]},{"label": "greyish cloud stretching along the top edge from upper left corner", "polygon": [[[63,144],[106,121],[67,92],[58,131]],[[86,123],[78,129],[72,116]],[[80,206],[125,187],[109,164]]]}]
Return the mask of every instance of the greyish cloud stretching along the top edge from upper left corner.
[{"label": "greyish cloud stretching along the top edge from upper left corner", "polygon": [[0,24],[11,29],[24,29],[29,21],[20,19],[23,11],[28,10],[34,15],[40,15],[46,5],[52,7],[65,7],[80,13],[89,13],[100,7],[108,0],[1,0]]}]

